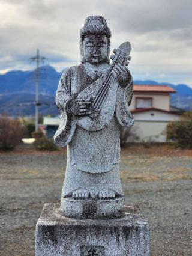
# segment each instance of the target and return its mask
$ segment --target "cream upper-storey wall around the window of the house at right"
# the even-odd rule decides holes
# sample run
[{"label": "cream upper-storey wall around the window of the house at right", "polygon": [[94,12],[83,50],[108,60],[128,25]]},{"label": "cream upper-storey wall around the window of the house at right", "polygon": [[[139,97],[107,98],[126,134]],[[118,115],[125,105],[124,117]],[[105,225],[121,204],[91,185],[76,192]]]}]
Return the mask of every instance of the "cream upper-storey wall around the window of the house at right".
[{"label": "cream upper-storey wall around the window of the house at right", "polygon": [[169,111],[170,109],[170,96],[169,94],[152,94],[152,93],[134,93],[130,104],[130,110],[136,109],[136,98],[152,98],[152,108],[164,109]]}]

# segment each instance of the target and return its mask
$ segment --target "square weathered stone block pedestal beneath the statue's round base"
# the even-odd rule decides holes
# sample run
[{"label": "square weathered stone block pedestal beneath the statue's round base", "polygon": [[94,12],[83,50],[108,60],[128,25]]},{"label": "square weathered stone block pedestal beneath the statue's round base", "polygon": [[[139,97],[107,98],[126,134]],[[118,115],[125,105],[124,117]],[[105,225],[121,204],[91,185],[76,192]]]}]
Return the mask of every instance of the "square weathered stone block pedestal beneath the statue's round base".
[{"label": "square weathered stone block pedestal beneath the statue's round base", "polygon": [[36,256],[149,255],[149,226],[139,209],[127,206],[115,219],[75,219],[59,204],[45,204],[35,234]]}]

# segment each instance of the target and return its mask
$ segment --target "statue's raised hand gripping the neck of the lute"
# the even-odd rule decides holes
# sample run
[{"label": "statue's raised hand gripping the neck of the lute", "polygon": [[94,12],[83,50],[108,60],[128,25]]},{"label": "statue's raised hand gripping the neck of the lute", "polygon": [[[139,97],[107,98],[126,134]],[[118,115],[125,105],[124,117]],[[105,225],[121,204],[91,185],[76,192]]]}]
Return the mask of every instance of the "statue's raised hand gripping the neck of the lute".
[{"label": "statue's raised hand gripping the neck of the lute", "polygon": [[112,68],[112,73],[122,87],[126,86],[131,78],[127,67],[119,63],[115,64],[115,66]]}]

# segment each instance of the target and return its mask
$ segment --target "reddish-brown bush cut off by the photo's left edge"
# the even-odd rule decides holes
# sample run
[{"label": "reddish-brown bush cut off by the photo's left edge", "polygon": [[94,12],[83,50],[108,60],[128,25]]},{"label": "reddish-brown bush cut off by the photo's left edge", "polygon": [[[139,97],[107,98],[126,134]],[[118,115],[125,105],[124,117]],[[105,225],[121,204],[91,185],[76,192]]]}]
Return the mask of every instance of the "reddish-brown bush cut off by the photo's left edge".
[{"label": "reddish-brown bush cut off by the photo's left edge", "polygon": [[12,150],[25,135],[26,127],[19,120],[8,118],[7,115],[0,116],[0,148],[2,150]]}]

